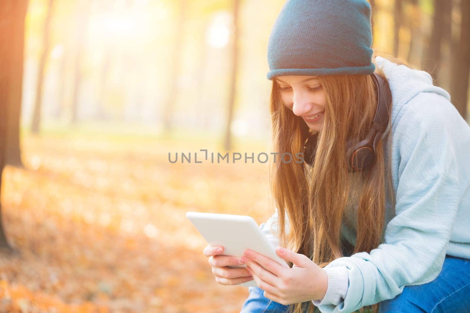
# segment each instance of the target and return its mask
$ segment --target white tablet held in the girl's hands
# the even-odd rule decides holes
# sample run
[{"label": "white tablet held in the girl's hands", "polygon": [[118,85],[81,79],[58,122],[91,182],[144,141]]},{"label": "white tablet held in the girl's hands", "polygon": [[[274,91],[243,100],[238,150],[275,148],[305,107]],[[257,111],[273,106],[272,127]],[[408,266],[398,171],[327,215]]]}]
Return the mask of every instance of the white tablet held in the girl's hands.
[{"label": "white tablet held in the girl's hands", "polygon": [[[245,249],[250,249],[265,255],[282,266],[289,267],[286,261],[276,254],[276,247],[263,234],[251,216],[187,212],[186,217],[208,244],[224,247],[224,252],[220,255],[241,257]],[[246,267],[246,265],[234,267]],[[243,282],[240,285],[257,286],[254,280]]]}]

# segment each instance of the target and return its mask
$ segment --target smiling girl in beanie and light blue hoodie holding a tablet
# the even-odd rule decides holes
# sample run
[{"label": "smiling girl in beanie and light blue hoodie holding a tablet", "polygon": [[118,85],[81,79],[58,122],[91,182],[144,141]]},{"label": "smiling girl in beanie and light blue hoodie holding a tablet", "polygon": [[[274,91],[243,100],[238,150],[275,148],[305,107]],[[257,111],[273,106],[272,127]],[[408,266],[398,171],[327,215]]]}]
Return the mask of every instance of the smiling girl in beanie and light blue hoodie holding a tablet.
[{"label": "smiling girl in beanie and light blue hoodie holding a tablet", "polygon": [[470,127],[371,43],[365,0],[289,0],[274,23],[274,151],[313,155],[272,163],[260,227],[290,268],[204,249],[220,284],[256,281],[243,313],[470,312]]}]

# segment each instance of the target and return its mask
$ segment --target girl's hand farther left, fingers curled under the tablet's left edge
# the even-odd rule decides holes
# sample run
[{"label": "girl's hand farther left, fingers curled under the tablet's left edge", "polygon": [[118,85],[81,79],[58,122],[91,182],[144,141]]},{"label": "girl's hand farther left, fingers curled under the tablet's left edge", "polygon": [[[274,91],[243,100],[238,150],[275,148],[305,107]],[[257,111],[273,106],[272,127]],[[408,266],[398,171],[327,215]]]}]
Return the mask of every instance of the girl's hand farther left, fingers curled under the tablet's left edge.
[{"label": "girl's hand farther left, fingers curled under the tablet's left edge", "polygon": [[253,277],[246,268],[230,268],[227,266],[240,266],[240,258],[218,255],[224,252],[224,247],[208,245],[204,248],[204,255],[209,257],[209,264],[215,281],[221,285],[237,285],[242,282],[249,282]]}]

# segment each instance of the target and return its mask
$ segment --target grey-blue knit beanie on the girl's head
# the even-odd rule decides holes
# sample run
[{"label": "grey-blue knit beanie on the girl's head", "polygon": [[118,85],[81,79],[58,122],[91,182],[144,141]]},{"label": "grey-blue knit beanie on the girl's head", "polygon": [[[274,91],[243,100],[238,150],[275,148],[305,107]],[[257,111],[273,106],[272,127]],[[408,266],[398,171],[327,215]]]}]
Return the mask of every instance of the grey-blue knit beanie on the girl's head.
[{"label": "grey-blue knit beanie on the girl's head", "polygon": [[366,0],[288,0],[269,36],[266,76],[372,74],[371,45]]}]

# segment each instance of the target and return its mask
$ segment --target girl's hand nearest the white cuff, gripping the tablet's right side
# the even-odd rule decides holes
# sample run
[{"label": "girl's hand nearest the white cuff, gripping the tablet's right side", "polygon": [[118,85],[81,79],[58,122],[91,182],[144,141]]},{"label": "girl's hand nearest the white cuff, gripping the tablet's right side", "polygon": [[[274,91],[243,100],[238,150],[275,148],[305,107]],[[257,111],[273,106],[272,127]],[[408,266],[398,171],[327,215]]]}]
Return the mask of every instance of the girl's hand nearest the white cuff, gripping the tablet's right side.
[{"label": "girl's hand nearest the white cuff, gripping the tablet's right side", "polygon": [[253,275],[264,296],[282,305],[318,300],[325,296],[328,289],[326,270],[319,267],[303,254],[276,248],[282,259],[293,263],[292,268],[283,267],[276,261],[254,252],[245,250],[242,262]]}]

